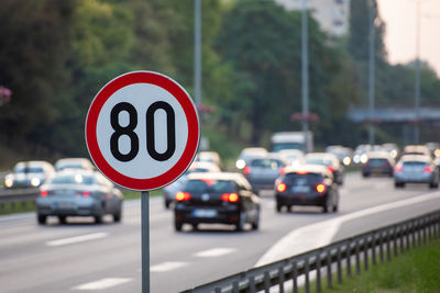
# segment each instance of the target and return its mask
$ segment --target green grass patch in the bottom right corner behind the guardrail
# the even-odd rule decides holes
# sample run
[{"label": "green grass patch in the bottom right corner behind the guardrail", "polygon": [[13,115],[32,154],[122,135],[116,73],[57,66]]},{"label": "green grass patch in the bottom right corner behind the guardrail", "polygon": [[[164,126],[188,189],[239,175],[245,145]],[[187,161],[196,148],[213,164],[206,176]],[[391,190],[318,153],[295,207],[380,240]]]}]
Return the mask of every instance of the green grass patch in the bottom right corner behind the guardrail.
[{"label": "green grass patch in the bottom right corner behind the guardrail", "polygon": [[[353,269],[352,278],[344,274],[342,284],[336,280],[333,277],[332,290],[327,289],[323,280],[321,292],[440,292],[440,239],[399,255],[389,262],[370,267],[360,275]],[[311,288],[316,292],[316,284]]]}]

